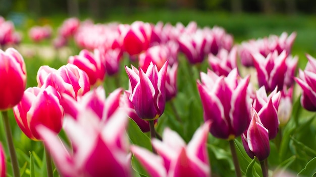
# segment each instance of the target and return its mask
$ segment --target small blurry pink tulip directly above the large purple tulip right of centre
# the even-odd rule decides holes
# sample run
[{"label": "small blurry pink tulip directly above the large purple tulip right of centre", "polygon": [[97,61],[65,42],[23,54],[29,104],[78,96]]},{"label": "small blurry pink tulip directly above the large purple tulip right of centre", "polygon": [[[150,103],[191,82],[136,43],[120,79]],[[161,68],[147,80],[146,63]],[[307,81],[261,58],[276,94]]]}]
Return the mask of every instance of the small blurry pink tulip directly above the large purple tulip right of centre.
[{"label": "small blurry pink tulip directly above the large purple tulip right of centre", "polygon": [[212,53],[208,54],[208,63],[217,75],[227,76],[231,70],[237,68],[237,47],[230,52],[220,49],[216,56]]}]

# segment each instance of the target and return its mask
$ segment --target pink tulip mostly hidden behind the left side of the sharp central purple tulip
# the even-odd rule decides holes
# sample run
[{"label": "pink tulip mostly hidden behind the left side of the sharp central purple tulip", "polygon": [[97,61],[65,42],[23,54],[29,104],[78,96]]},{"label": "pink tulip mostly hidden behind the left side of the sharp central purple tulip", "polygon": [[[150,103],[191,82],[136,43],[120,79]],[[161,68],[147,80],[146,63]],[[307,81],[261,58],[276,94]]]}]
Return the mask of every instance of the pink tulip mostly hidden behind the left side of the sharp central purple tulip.
[{"label": "pink tulip mostly hidden behind the left side of the sharp central purple tulip", "polygon": [[[133,103],[130,101],[131,91],[125,91],[120,99],[120,107],[126,112],[127,116],[130,117],[140,128],[142,132],[149,132],[149,122],[138,117]],[[158,119],[154,120],[156,124]]]}]

